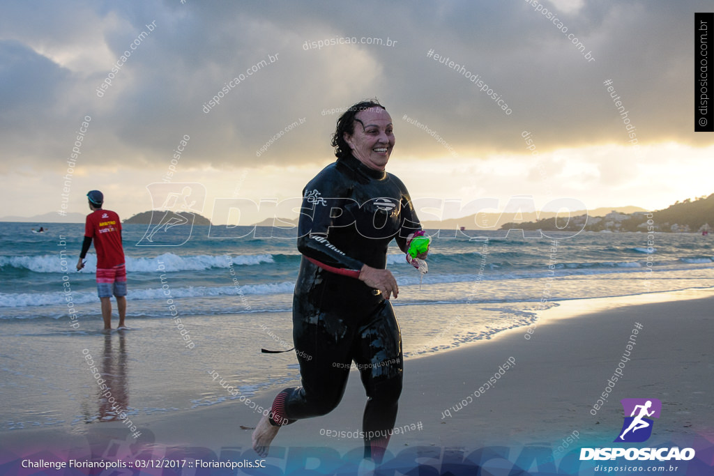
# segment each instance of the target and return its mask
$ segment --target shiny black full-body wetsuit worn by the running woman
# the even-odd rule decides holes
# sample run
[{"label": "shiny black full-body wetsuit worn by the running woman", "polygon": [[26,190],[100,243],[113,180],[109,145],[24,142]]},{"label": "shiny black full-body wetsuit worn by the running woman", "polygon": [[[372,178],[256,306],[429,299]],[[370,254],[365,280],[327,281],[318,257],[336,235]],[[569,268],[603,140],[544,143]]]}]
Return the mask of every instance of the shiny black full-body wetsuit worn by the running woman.
[{"label": "shiny black full-body wetsuit worn by the running woman", "polygon": [[338,159],[307,184],[293,296],[302,387],[278,394],[273,425],[331,412],[354,360],[368,396],[366,455],[383,454],[402,389],[401,334],[391,303],[358,275],[363,264],[385,269],[391,240],[406,252],[407,236],[419,230],[404,184],[356,158]]}]

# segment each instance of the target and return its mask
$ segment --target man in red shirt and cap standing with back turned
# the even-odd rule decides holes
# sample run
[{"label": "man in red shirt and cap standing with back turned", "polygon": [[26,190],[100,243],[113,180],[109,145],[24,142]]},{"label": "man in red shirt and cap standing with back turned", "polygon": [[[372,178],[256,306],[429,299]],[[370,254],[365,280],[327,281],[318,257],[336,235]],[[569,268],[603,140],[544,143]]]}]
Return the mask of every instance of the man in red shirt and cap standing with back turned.
[{"label": "man in red shirt and cap standing with back turned", "polygon": [[119,329],[126,329],[126,265],[124,248],[121,245],[121,221],[119,215],[104,210],[104,195],[99,190],[87,193],[89,213],[84,224],[84,243],[79,253],[77,270],[84,268],[84,257],[94,238],[96,250],[96,290],[101,300],[101,317],[104,330],[111,330],[111,295],[116,298],[119,310]]}]

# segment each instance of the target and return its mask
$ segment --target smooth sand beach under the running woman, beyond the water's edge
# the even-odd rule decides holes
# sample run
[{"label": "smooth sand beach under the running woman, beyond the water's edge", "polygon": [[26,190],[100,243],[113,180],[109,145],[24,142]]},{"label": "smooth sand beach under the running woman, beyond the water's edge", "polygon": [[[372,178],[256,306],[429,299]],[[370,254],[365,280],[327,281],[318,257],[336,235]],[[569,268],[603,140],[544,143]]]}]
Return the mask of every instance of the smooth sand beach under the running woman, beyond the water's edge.
[{"label": "smooth sand beach under the running woman, beyond the water's edge", "polygon": [[[694,447],[697,457],[688,462],[688,472],[679,474],[711,474],[699,471],[712,464],[714,447],[713,305],[711,290],[570,300],[542,311],[535,325],[408,360],[396,423],[402,432],[391,438],[386,462],[391,456],[403,461],[407,455],[421,452],[428,456],[429,464],[440,468],[449,455],[458,460],[470,452],[473,456],[476,450],[498,446],[510,448],[506,459],[515,462],[527,448],[538,448],[542,461],[534,468],[539,471],[553,470],[554,459],[556,466],[560,465],[559,474],[594,474],[595,462],[583,462],[579,467],[580,447],[615,446],[612,442],[623,422],[619,400],[638,397],[662,402],[661,417],[646,445]],[[633,334],[633,329],[638,333]],[[623,360],[628,342],[632,350],[629,360],[620,366],[621,378],[595,410],[593,405],[608,387],[608,378]],[[272,397],[264,392],[251,400],[267,407]],[[358,460],[361,440],[351,436],[360,430],[364,402],[363,388],[353,370],[337,410],[283,427],[273,442],[268,465],[283,467],[287,461],[283,470],[288,474],[304,463],[302,467],[313,470],[311,474],[332,474],[334,461]],[[121,423],[106,422],[94,425],[86,435],[55,430],[4,432],[0,443],[3,464],[40,448],[57,457],[89,457],[90,451],[94,457],[107,457],[109,449],[101,445],[112,440],[119,447],[122,444],[116,442],[126,443],[124,450],[129,453],[124,456],[131,457],[161,459],[180,453],[185,457],[203,454],[206,460],[238,456],[253,460],[256,455],[249,450],[249,428],[257,420],[258,413],[236,400],[178,416],[142,417],[138,440],[129,438]],[[303,453],[298,451],[301,448]],[[304,459],[311,452],[317,460]],[[411,460],[416,465],[416,460]],[[568,469],[563,467],[565,462],[575,466]],[[700,467],[693,466],[695,462]]]}]

